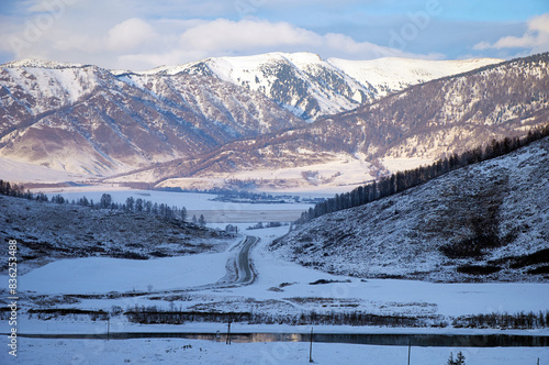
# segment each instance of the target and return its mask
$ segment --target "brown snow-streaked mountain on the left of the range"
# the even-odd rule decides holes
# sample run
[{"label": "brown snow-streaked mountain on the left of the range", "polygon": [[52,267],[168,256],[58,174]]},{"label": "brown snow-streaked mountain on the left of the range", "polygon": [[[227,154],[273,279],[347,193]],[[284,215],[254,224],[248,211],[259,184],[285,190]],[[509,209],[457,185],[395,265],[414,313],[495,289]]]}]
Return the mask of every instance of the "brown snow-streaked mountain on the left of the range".
[{"label": "brown snow-streaked mountain on the left of the range", "polygon": [[215,77],[115,76],[24,60],[0,68],[0,155],[112,174],[304,124],[260,92]]}]

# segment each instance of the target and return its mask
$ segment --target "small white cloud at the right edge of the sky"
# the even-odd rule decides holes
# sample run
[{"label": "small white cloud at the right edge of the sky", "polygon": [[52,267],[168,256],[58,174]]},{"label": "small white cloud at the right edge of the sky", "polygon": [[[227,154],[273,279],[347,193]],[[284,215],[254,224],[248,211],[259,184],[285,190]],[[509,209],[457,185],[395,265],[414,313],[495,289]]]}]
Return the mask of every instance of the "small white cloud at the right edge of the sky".
[{"label": "small white cloud at the right edge of the sky", "polygon": [[527,23],[528,30],[523,36],[504,36],[494,44],[481,42],[474,45],[474,49],[503,49],[503,48],[528,48],[530,53],[549,51],[549,13],[530,19]]}]

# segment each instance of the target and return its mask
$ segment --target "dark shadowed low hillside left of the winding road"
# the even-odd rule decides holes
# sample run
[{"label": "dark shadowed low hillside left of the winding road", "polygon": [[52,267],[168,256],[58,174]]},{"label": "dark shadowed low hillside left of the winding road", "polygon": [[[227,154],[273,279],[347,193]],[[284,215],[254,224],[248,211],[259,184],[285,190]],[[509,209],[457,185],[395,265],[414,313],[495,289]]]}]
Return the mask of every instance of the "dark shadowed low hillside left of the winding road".
[{"label": "dark shadowed low hillside left of the winding road", "polygon": [[[148,259],[224,251],[234,241],[175,219],[0,196],[0,241],[16,240],[20,274],[60,258]],[[0,247],[8,255],[8,245]],[[0,266],[5,273],[8,264]]]}]

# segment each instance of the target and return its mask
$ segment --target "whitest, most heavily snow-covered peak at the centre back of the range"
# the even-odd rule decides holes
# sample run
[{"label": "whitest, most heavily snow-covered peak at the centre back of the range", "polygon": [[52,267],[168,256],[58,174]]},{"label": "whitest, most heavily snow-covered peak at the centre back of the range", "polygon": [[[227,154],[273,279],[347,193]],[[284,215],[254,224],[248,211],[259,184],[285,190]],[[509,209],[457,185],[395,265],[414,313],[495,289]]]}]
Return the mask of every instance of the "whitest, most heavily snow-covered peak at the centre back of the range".
[{"label": "whitest, most heavily snow-covered peak at the centre back of the range", "polygon": [[322,59],[311,53],[269,53],[213,57],[179,66],[163,66],[141,75],[190,74],[260,91],[295,115],[312,120],[355,109],[389,93],[432,79],[466,73],[503,59],[373,60]]}]

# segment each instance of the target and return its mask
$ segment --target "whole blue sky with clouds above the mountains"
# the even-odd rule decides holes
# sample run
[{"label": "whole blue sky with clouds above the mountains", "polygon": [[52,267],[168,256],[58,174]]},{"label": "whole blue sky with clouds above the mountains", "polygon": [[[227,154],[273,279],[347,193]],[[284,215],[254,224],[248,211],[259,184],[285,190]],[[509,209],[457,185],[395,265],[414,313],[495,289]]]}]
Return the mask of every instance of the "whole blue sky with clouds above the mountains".
[{"label": "whole blue sky with clouds above the mountains", "polygon": [[549,0],[0,0],[0,63],[145,70],[217,56],[513,58],[549,51]]}]

